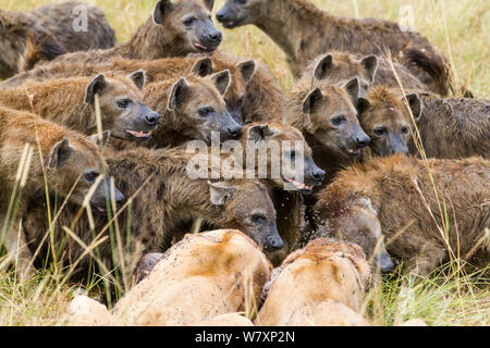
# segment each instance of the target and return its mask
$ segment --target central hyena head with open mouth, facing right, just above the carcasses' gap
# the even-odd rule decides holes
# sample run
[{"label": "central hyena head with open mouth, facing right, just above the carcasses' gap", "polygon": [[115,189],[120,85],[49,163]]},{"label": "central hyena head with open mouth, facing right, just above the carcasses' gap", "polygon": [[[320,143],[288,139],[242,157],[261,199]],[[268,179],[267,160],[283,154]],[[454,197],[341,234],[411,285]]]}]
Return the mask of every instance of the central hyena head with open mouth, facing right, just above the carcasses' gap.
[{"label": "central hyena head with open mouth, facing right, just above the carcasses' gap", "polygon": [[[267,156],[267,175],[275,187],[308,195],[313,186],[323,182],[324,172],[315,163],[311,149],[295,127],[279,123],[254,123],[246,125],[243,133],[246,156],[255,157],[255,170],[258,171],[260,159],[257,154],[264,151],[264,156]],[[296,163],[301,163],[301,166],[296,167]],[[279,176],[271,175],[274,167],[279,170]],[[299,173],[297,171],[301,167],[303,172]]]}]

